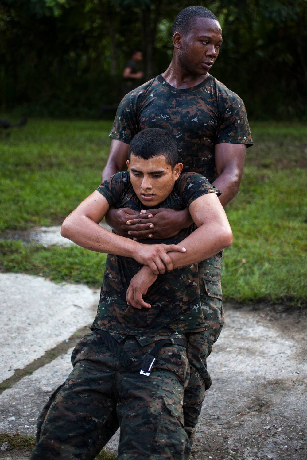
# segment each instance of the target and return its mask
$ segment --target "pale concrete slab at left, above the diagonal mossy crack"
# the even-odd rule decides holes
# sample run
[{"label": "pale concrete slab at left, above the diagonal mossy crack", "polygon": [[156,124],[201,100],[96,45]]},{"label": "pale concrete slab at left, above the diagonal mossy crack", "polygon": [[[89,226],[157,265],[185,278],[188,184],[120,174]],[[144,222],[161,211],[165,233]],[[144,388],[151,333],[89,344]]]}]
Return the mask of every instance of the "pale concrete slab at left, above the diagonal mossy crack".
[{"label": "pale concrete slab at left, above the diagonal mossy crack", "polygon": [[91,324],[98,300],[82,284],[0,273],[0,381]]}]

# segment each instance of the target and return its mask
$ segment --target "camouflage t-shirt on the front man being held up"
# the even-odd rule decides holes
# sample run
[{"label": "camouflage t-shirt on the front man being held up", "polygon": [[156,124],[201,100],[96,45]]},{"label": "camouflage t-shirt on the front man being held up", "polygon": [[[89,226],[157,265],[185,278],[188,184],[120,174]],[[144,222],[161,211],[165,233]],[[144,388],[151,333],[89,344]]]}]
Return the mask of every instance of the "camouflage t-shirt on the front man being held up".
[{"label": "camouflage t-shirt on the front man being held up", "polygon": [[[129,207],[136,212],[146,209],[136,196],[129,173],[117,173],[97,189],[110,206]],[[207,178],[197,173],[181,174],[170,195],[156,208],[175,210],[189,207],[206,193],[220,194]],[[152,207],[151,207],[152,209]],[[143,244],[178,244],[195,230],[194,224],[166,240],[143,240]],[[127,306],[126,292],[131,278],[142,265],[129,257],[108,254],[101,287],[97,316],[92,329],[130,335],[169,335],[204,330],[200,306],[197,264],[174,269],[157,280],[144,296],[151,309]]]}]

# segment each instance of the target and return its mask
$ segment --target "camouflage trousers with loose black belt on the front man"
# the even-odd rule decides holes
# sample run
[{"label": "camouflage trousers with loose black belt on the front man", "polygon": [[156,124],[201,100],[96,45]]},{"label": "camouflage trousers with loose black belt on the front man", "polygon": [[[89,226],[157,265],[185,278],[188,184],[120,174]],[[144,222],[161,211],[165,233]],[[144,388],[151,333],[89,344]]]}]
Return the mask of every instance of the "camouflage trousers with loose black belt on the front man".
[{"label": "camouflage trousers with loose black belt on the front man", "polygon": [[152,342],[141,346],[127,336],[121,345],[133,357],[126,368],[95,332],[76,345],[74,369],[39,417],[32,460],[94,459],[110,437],[108,420],[115,411],[121,427],[118,460],[188,458],[182,410],[190,378],[185,348],[164,345],[147,377],[139,371]]}]

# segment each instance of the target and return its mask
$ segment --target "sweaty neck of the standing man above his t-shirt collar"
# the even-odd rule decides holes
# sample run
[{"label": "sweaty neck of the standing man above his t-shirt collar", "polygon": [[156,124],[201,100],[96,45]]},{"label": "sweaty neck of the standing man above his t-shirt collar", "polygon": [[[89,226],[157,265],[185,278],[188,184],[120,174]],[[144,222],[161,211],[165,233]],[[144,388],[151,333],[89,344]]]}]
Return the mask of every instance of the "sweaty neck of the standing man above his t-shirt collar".
[{"label": "sweaty neck of the standing man above his t-shirt collar", "polygon": [[200,83],[203,83],[208,77],[206,75],[195,75],[191,74],[187,70],[183,69],[179,62],[175,62],[173,57],[172,62],[169,64],[165,72],[162,73],[162,77],[169,85],[174,86],[177,89],[192,88]]}]

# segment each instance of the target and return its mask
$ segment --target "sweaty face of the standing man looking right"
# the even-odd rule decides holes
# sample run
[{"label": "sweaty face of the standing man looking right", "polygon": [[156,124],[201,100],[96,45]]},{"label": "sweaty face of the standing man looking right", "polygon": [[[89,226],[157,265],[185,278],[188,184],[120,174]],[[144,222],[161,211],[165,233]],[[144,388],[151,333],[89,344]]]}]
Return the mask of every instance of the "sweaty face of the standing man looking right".
[{"label": "sweaty face of the standing man looking right", "polygon": [[218,57],[222,41],[218,21],[198,17],[190,33],[180,38],[178,56],[183,69],[194,75],[206,75]]}]

